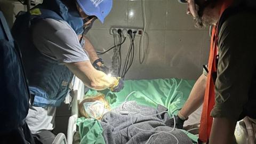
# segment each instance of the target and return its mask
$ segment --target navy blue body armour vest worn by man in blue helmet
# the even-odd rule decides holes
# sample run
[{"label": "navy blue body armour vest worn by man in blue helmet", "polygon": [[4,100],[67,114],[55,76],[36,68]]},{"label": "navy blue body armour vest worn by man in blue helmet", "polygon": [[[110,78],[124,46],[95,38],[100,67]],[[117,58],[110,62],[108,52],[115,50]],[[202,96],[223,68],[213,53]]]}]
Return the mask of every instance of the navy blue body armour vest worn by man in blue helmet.
[{"label": "navy blue body armour vest worn by man in blue helmet", "polygon": [[76,34],[83,33],[83,19],[76,9],[60,0],[45,0],[30,10],[19,14],[12,28],[12,35],[18,42],[25,63],[29,91],[34,95],[33,106],[60,106],[69,94],[73,78],[71,71],[57,60],[46,57],[32,42],[30,26],[38,20],[52,18],[69,23]]}]

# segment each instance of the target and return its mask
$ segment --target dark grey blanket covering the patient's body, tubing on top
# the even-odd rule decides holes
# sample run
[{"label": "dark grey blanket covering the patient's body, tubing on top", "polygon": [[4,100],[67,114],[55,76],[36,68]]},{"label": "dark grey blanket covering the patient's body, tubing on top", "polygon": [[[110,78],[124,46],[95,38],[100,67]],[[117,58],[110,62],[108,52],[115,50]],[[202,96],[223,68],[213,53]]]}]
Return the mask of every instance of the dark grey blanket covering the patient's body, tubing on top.
[{"label": "dark grey blanket covering the patient's body, tubing on top", "polygon": [[[121,105],[103,116],[100,123],[103,128],[105,142],[107,144],[146,143],[152,134],[157,133],[138,130],[134,126],[150,131],[171,131],[173,127],[166,126],[166,121],[170,119],[167,113],[149,116],[166,110],[167,108],[161,105],[155,109],[137,105],[135,101],[126,102],[124,107]],[[120,111],[129,111],[129,114],[122,115],[119,113]],[[149,117],[143,117],[139,114]],[[134,125],[131,123],[131,117]],[[170,133],[178,139],[180,144],[192,143],[189,137],[179,129]],[[177,143],[178,141],[171,134],[159,133],[153,135],[148,143]]]}]

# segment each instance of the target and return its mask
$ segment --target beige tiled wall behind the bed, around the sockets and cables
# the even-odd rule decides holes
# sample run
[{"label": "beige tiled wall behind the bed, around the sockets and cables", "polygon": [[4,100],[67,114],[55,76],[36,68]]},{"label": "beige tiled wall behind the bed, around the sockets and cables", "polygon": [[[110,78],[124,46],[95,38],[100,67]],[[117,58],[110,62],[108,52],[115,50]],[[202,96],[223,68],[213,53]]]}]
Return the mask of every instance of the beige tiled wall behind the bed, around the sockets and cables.
[{"label": "beige tiled wall behind the bed, around the sockets and cables", "polygon": [[[202,74],[209,53],[209,30],[194,28],[193,19],[186,15],[186,4],[177,0],[145,0],[149,47],[145,62],[139,63],[139,39],[135,38],[136,53],[127,79],[186,78],[196,79]],[[130,13],[133,12],[133,17]],[[109,28],[114,26],[142,27],[141,0],[114,0],[113,9],[102,25],[98,20],[87,36],[98,51],[113,45]],[[146,39],[146,38],[145,38]],[[130,41],[122,46],[129,49]],[[123,53],[123,57],[126,53]],[[113,52],[102,56],[111,66]]]}]

